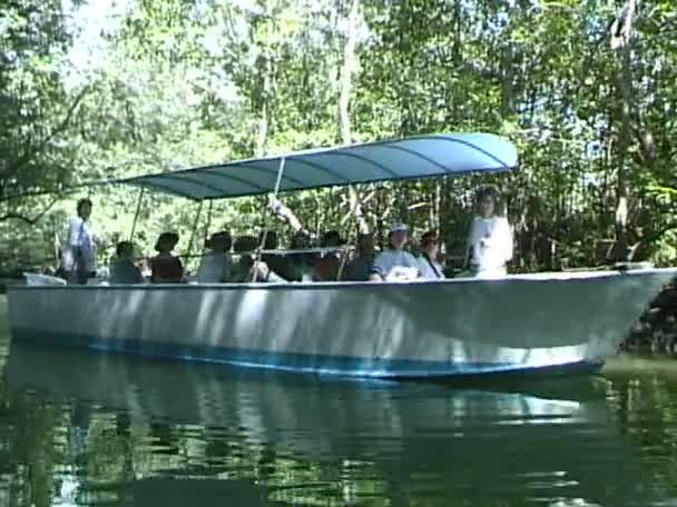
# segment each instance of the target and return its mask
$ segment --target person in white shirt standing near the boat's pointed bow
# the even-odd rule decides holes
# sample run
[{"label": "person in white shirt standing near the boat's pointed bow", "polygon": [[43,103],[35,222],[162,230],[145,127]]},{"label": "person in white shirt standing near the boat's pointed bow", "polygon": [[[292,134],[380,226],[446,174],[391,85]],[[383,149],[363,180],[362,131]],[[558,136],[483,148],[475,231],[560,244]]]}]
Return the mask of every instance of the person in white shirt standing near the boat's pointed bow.
[{"label": "person in white shirt standing near the boat's pointed bow", "polygon": [[512,230],[508,219],[497,215],[499,192],[496,187],[484,187],[478,192],[477,201],[480,215],[474,217],[468,235],[470,274],[506,276],[506,265],[512,259]]}]

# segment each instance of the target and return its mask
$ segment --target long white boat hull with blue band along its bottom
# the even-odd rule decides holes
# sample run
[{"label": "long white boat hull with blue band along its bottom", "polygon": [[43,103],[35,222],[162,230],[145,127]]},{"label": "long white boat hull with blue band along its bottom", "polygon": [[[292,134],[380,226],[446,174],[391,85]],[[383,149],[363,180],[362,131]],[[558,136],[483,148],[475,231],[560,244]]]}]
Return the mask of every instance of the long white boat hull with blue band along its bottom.
[{"label": "long white boat hull with blue band along its bottom", "polygon": [[371,377],[593,369],[676,269],[498,280],[14,287],[14,339]]}]

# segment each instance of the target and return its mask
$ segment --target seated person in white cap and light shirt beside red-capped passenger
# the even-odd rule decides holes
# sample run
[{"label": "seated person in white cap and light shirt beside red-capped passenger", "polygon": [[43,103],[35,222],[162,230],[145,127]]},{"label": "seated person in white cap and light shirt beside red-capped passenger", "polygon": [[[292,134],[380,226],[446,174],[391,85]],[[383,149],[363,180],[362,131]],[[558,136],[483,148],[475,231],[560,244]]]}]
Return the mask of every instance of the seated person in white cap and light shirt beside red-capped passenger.
[{"label": "seated person in white cap and light shirt beside red-capped passenger", "polygon": [[419,260],[404,247],[409,242],[409,227],[395,223],[387,237],[390,248],[374,259],[372,281],[411,280],[420,276]]}]

